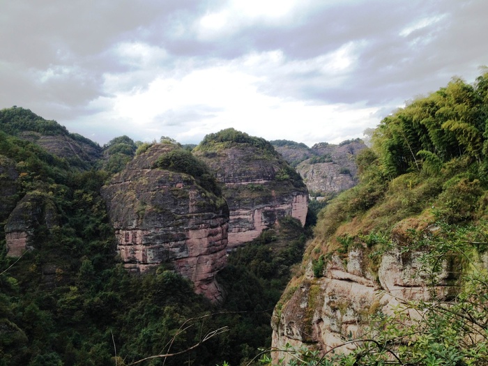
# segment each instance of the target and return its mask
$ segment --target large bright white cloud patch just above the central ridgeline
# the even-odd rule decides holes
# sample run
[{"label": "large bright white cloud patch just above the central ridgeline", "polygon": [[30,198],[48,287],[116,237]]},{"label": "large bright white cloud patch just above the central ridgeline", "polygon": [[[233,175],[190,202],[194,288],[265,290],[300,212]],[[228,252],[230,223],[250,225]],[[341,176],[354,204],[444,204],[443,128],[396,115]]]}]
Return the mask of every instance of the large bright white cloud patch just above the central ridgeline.
[{"label": "large bright white cloud patch just above the central ridgeline", "polygon": [[[324,63],[329,63],[328,73],[347,68],[351,65],[352,48],[344,45],[307,67],[321,70]],[[261,72],[253,73],[257,65]],[[291,72],[305,66],[293,61],[287,63],[279,51],[249,54],[200,69],[188,68],[185,75],[181,74],[187,67],[181,63],[179,71],[172,75],[161,73],[146,89],[115,93],[112,119],[137,126],[136,139],[169,135],[179,142],[196,143],[210,132],[233,127],[267,139],[279,135],[309,145],[319,140],[340,142],[360,137],[365,128],[379,122],[373,115],[377,111],[374,107],[310,103],[266,93],[268,88],[261,86],[273,79],[265,71],[276,68]],[[115,91],[117,88],[110,84],[117,84],[119,79],[111,75],[106,82],[107,89]]]}]

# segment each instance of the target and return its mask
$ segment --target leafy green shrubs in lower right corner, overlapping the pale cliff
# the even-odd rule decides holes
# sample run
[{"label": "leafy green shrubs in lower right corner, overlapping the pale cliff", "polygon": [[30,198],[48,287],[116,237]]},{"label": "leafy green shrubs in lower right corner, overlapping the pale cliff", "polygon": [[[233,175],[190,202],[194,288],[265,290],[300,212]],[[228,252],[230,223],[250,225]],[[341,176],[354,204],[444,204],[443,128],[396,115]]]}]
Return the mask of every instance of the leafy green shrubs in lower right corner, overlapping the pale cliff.
[{"label": "leafy green shrubs in lower right corner, overlapping the pale cliff", "polygon": [[[433,300],[400,301],[389,314],[384,314],[379,304],[373,305],[363,337],[349,336],[325,354],[307,347],[287,346],[283,351],[293,355],[287,365],[486,365],[488,273],[482,256],[486,252],[487,222],[464,227],[437,224],[436,234],[410,231],[415,244],[406,250],[425,253],[420,258],[419,271],[432,283],[445,275],[444,263],[456,266],[453,270],[457,277],[451,280],[449,293],[437,293],[433,286]],[[458,270],[464,275],[459,276]],[[357,348],[344,354],[346,345]],[[264,355],[261,363],[272,365],[272,360]],[[278,365],[284,363],[280,361]]]}]

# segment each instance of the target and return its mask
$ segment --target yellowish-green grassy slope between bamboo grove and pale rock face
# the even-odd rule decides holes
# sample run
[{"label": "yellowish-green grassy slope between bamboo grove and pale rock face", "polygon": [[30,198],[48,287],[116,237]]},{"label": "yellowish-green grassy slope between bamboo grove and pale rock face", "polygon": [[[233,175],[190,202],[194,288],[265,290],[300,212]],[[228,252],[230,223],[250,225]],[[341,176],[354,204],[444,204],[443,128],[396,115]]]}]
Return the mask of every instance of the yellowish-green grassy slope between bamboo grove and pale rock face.
[{"label": "yellowish-green grassy slope between bamboo grove and pale rock face", "polygon": [[[346,255],[351,245],[370,248],[386,241],[409,245],[411,230],[434,222],[462,226],[488,215],[487,186],[475,174],[477,162],[469,158],[446,162],[439,174],[422,169],[390,179],[377,158],[367,163],[367,169],[360,165],[361,182],[320,211],[304,265],[310,260],[317,264],[321,256],[333,252]],[[375,241],[379,237],[386,241]],[[369,252],[375,250],[378,247]]]}]

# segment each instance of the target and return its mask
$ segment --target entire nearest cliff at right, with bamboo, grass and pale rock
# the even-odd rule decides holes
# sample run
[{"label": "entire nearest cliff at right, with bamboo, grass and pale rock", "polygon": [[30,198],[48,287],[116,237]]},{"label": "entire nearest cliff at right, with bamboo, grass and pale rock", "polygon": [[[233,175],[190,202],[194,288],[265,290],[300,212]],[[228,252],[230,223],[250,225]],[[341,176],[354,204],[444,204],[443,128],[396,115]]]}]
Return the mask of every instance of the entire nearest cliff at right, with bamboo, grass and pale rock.
[{"label": "entire nearest cliff at right, with bamboo, grass and pale rock", "polygon": [[274,362],[486,365],[488,74],[411,100],[372,142],[275,308]]}]

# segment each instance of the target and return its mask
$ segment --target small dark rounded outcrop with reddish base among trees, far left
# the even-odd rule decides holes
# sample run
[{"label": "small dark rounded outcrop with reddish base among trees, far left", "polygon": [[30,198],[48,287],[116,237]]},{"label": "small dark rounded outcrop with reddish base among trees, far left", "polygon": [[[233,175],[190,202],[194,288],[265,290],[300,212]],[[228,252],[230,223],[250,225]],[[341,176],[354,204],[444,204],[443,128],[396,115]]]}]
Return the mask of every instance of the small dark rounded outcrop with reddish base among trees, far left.
[{"label": "small dark rounded outcrop with reddish base among trees, far left", "polygon": [[33,248],[33,234],[36,230],[52,229],[58,226],[56,206],[45,193],[27,193],[8,216],[5,225],[7,256],[20,257],[24,250]]}]

